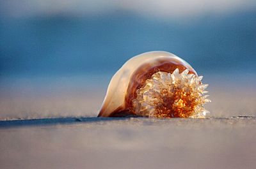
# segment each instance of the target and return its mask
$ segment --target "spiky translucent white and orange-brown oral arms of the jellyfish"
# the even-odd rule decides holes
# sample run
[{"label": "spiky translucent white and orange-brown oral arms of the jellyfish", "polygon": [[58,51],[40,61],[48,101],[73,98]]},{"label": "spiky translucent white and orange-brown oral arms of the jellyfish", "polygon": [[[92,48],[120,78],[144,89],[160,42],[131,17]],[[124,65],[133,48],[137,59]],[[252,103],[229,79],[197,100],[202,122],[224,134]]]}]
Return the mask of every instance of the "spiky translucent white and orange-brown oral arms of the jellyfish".
[{"label": "spiky translucent white and orange-brown oral arms of the jellyfish", "polygon": [[136,91],[137,96],[132,100],[134,113],[143,117],[204,118],[208,113],[204,104],[211,102],[204,95],[208,84],[202,84],[202,76],[188,73],[188,70],[179,73],[179,69],[173,73],[154,73]]}]

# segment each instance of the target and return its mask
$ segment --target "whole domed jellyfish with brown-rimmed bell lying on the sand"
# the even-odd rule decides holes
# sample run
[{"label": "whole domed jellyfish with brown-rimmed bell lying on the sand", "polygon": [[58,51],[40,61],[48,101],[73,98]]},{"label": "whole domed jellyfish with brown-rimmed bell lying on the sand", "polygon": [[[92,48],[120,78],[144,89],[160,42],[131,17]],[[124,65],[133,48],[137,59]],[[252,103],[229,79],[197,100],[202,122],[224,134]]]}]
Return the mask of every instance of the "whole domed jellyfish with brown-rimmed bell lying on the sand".
[{"label": "whole domed jellyfish with brown-rimmed bell lying on the sand", "polygon": [[112,77],[98,117],[205,117],[207,84],[169,52],[136,55]]}]

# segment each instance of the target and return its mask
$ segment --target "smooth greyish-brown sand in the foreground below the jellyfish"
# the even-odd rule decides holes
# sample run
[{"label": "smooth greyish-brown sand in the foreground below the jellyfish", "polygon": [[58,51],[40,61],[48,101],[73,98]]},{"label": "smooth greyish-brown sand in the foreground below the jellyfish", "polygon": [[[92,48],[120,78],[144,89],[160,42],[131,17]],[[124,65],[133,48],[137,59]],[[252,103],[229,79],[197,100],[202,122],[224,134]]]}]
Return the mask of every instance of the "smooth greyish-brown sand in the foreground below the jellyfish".
[{"label": "smooth greyish-brown sand in the foreground below the jellyfish", "polygon": [[256,118],[0,128],[1,168],[255,168]]}]

